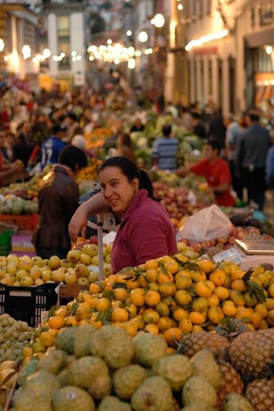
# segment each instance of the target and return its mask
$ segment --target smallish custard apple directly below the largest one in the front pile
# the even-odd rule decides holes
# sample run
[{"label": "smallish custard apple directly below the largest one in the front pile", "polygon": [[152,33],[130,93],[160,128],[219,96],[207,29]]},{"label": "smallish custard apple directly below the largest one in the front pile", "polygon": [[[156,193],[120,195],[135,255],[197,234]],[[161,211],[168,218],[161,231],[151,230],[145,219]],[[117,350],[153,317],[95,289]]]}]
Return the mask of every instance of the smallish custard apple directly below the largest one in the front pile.
[{"label": "smallish custard apple directly below the largest one in the front pile", "polygon": [[119,398],[129,399],[146,378],[147,373],[140,365],[125,366],[113,376],[115,392]]}]

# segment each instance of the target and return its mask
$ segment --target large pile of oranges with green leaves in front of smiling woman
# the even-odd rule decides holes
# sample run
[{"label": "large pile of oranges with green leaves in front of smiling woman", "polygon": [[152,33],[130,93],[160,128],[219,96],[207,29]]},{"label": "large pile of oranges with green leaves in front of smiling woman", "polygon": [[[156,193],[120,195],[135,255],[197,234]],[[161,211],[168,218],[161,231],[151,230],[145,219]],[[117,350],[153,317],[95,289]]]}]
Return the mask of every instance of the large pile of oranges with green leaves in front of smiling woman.
[{"label": "large pile of oranges with green leaves in front of smiling woman", "polygon": [[244,321],[252,331],[274,326],[273,271],[257,266],[246,273],[233,262],[190,260],[195,253],[184,243],[178,246],[175,256],[93,282],[89,292],[55,310],[37,335],[38,351],[49,347],[62,327],[86,323],[97,329],[112,323],[130,336],[140,330],[160,334],[171,351],[182,333],[212,331],[227,318]]}]

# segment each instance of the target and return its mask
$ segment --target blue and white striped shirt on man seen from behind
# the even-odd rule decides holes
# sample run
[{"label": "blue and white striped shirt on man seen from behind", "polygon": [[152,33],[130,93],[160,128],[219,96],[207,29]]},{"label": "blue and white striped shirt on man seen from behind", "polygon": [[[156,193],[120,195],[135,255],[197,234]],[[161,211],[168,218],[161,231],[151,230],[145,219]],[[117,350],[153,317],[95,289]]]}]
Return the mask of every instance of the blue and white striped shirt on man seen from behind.
[{"label": "blue and white striped shirt on man seen from behind", "polygon": [[177,169],[177,138],[162,137],[155,140],[152,148],[152,158],[158,158],[158,167],[163,170]]}]

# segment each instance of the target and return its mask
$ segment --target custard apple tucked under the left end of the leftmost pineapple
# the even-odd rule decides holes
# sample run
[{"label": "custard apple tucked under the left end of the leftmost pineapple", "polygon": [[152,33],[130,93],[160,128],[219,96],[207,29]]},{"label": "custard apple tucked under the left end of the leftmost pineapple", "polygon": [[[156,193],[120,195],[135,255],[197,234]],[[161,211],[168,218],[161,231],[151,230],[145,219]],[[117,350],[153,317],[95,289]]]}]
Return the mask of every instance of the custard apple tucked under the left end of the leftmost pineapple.
[{"label": "custard apple tucked under the left end of the leftmost pineapple", "polygon": [[175,391],[182,388],[192,373],[190,360],[181,354],[160,358],[154,362],[152,370],[155,375],[166,379]]}]

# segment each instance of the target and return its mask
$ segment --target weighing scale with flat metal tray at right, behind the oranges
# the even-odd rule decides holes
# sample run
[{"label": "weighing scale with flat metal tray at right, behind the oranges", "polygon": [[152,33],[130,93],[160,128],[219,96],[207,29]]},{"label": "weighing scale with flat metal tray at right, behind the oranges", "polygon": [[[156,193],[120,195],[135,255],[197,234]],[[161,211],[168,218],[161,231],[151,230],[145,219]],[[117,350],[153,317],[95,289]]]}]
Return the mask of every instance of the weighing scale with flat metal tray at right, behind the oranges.
[{"label": "weighing scale with flat metal tray at right, behind the oranges", "polygon": [[235,247],[216,254],[213,260],[230,260],[243,270],[263,263],[274,266],[274,240],[235,240]]}]

